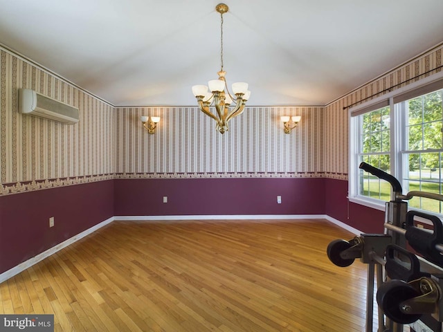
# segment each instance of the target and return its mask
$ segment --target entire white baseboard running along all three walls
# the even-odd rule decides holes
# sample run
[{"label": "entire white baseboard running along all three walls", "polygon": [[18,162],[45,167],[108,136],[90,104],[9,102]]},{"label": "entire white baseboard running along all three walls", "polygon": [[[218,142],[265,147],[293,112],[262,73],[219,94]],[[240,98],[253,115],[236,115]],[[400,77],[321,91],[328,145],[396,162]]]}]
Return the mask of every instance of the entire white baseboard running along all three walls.
[{"label": "entire white baseboard running along all three walls", "polygon": [[326,219],[327,221],[330,221],[341,228],[344,228],[345,230],[348,230],[356,235],[360,235],[361,232],[359,230],[356,230],[355,228],[352,228],[350,225],[346,225],[345,223],[342,223],[341,221],[338,221],[337,219],[334,219],[330,216],[327,216],[326,214],[250,214],[250,215],[194,215],[194,216],[112,216],[111,218],[102,221],[101,223],[98,223],[97,225],[84,230],[83,232],[71,237],[70,239],[67,239],[66,241],[63,241],[62,243],[57,244],[57,246],[53,246],[53,248],[50,248],[39,255],[28,259],[27,261],[24,261],[23,263],[11,268],[10,270],[7,270],[6,272],[3,272],[0,274],[0,284],[7,279],[10,279],[11,277],[14,277],[15,275],[18,275],[19,273],[23,272],[27,268],[30,268],[30,266],[33,266],[34,264],[37,264],[39,261],[42,261],[46,257],[49,257],[53,255],[55,252],[62,250],[63,248],[66,248],[70,244],[74,243],[75,241],[78,241],[82,239],[83,237],[86,237],[87,235],[91,234],[92,232],[95,232],[99,228],[102,228],[103,226],[113,222],[113,221],[168,221],[168,220],[282,220],[282,219]]}]

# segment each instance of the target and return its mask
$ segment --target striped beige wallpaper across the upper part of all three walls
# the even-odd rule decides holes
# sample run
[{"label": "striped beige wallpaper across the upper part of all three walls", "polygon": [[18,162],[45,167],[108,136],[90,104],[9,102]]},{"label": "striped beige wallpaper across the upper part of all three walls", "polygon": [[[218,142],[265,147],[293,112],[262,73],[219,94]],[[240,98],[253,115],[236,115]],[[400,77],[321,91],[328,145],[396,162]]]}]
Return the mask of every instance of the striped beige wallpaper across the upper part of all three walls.
[{"label": "striped beige wallpaper across the upper part of all three walls", "polygon": [[[328,177],[347,179],[343,107],[442,65],[443,46],[326,107],[247,107],[221,135],[197,107],[116,108],[0,48],[0,195],[111,178]],[[17,112],[17,89],[80,109],[59,124]],[[378,95],[377,95],[378,96]],[[140,116],[161,116],[157,132]],[[300,115],[290,134],[280,116]]]}]

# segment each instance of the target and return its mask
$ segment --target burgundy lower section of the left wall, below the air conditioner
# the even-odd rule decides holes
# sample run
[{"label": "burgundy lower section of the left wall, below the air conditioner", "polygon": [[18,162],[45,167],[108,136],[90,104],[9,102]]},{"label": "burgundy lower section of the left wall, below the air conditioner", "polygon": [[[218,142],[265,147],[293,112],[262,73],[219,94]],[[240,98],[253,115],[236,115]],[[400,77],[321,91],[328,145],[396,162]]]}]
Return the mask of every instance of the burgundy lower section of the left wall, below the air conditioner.
[{"label": "burgundy lower section of the left wall, below the air conditioner", "polygon": [[114,180],[0,196],[0,273],[112,216]]}]

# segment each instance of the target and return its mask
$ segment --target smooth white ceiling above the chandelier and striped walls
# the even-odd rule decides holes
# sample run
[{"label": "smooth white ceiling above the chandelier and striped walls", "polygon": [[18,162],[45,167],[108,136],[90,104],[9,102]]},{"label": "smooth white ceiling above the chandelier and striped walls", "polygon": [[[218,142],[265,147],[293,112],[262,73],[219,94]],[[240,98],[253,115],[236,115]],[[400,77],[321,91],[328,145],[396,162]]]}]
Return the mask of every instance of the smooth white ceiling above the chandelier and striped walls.
[{"label": "smooth white ceiling above the chandelier and striped walls", "polygon": [[[192,106],[220,69],[219,0],[0,0],[0,43],[115,106]],[[442,0],[226,0],[248,105],[324,105],[443,42]]]}]

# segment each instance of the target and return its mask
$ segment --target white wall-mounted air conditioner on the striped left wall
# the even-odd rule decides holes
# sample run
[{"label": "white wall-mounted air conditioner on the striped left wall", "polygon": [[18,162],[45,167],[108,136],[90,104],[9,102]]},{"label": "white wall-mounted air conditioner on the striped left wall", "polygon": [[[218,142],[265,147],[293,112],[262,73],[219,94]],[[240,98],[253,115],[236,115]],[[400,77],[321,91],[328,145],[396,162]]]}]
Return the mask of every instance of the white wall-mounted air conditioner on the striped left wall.
[{"label": "white wall-mounted air conditioner on the striped left wall", "polygon": [[19,112],[67,124],[75,124],[80,118],[75,107],[30,89],[19,89]]}]

